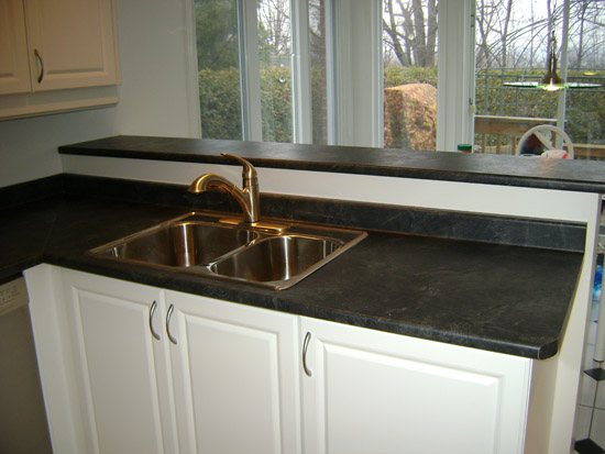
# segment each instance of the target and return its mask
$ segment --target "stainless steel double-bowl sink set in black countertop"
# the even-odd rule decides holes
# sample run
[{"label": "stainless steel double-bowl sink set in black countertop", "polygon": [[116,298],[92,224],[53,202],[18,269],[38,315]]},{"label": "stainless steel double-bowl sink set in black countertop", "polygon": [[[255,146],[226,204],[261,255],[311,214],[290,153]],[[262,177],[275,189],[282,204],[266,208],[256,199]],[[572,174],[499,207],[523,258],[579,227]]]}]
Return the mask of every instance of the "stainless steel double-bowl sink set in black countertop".
[{"label": "stainless steel double-bowl sink set in black countertop", "polygon": [[110,259],[285,289],[367,234],[191,212],[90,251]]}]

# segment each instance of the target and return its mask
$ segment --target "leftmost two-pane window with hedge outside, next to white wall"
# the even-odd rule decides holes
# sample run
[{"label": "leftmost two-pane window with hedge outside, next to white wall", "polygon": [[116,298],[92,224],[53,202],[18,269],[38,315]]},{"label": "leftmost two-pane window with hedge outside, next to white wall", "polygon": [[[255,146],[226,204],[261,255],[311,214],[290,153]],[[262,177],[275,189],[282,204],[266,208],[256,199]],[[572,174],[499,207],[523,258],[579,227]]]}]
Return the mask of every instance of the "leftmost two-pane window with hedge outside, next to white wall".
[{"label": "leftmost two-pane window with hedge outside, next to white wall", "polygon": [[195,0],[205,139],[292,142],[288,0]]}]

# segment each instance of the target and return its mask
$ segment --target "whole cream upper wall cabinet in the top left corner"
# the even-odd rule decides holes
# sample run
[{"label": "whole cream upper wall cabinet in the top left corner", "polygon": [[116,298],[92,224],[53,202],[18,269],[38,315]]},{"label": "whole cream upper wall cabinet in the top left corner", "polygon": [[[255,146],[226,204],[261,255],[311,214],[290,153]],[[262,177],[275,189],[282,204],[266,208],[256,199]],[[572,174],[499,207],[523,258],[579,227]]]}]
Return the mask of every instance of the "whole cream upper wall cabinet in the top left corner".
[{"label": "whole cream upper wall cabinet in the top left corner", "polygon": [[114,0],[0,2],[0,118],[118,101]]}]

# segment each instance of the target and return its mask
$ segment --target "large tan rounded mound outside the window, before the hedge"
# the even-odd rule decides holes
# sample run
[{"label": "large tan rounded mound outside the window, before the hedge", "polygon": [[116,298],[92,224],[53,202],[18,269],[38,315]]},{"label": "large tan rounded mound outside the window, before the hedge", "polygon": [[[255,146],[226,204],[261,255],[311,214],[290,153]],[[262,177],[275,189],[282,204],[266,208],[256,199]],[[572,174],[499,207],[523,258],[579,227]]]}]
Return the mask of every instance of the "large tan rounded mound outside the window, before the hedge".
[{"label": "large tan rounded mound outside the window, before the hedge", "polygon": [[436,150],[437,88],[406,84],[384,90],[384,146]]}]

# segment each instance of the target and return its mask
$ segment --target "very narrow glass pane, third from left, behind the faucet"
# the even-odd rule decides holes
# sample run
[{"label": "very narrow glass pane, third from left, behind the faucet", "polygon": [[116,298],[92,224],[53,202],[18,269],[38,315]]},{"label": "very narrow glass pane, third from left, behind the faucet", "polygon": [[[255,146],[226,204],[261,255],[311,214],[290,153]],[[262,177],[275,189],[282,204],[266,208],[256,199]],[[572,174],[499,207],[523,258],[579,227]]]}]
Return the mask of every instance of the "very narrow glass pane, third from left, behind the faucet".
[{"label": "very narrow glass pane, third from left, behind the faucet", "polygon": [[311,62],[314,144],[328,143],[326,31],[326,0],[309,0],[309,52]]}]

